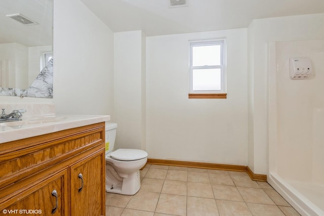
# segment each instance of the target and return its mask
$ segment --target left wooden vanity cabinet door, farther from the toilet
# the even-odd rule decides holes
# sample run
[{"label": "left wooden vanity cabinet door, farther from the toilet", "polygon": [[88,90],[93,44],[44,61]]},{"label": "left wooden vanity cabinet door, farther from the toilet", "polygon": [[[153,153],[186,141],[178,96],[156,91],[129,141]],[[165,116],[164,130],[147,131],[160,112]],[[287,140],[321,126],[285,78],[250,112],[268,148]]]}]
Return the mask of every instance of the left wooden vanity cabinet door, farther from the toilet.
[{"label": "left wooden vanity cabinet door, farther from the toilet", "polygon": [[65,169],[32,187],[28,187],[32,182],[27,179],[27,186],[13,198],[16,202],[1,209],[0,215],[68,215],[67,177]]}]

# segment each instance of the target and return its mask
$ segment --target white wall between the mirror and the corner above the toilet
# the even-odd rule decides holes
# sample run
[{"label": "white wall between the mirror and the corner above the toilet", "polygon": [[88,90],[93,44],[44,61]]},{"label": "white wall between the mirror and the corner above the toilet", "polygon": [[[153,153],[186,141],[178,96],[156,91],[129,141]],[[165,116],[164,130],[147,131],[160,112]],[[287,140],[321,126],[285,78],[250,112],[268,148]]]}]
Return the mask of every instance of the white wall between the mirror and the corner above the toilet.
[{"label": "white wall between the mirror and the corner above the toilet", "polygon": [[79,0],[54,1],[54,103],[113,115],[113,33]]}]

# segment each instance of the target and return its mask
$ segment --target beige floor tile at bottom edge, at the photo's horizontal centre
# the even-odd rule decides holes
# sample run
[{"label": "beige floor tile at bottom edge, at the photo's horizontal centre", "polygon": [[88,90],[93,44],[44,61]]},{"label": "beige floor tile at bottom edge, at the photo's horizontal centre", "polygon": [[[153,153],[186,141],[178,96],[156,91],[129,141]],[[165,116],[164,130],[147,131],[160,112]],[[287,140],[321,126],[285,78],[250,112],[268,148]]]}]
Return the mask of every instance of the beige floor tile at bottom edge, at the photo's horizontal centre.
[{"label": "beige floor tile at bottom edge, at the photo's horizontal centre", "polygon": [[187,197],[173,194],[161,194],[155,209],[157,213],[186,215]]}]

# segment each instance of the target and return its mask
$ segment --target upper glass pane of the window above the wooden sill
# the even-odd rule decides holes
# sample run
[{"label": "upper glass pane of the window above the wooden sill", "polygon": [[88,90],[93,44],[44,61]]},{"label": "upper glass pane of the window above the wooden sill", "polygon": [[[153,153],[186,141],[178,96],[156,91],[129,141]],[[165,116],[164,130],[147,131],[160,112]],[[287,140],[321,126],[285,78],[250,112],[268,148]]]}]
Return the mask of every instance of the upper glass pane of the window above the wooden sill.
[{"label": "upper glass pane of the window above the wooden sill", "polygon": [[192,66],[220,65],[221,46],[192,47]]}]

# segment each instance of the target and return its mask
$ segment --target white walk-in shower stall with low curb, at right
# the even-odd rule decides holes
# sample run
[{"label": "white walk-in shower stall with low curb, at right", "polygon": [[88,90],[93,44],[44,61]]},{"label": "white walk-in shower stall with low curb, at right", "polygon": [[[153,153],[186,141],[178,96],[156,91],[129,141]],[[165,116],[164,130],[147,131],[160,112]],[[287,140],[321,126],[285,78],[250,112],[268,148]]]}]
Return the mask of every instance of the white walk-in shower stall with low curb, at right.
[{"label": "white walk-in shower stall with low curb, at right", "polygon": [[[312,75],[291,79],[291,58]],[[268,182],[302,215],[324,215],[324,40],[269,44]]]}]

